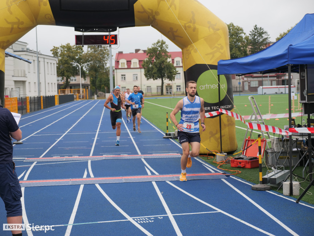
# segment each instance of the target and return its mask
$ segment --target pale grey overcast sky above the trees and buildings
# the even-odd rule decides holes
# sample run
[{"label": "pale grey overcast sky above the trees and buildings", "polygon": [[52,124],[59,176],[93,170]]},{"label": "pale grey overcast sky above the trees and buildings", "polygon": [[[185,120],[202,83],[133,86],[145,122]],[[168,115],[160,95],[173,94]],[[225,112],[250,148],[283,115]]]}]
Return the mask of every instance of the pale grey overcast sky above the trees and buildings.
[{"label": "pale grey overcast sky above the trees and buildings", "polygon": [[[249,35],[254,25],[262,27],[268,32],[270,40],[276,41],[276,37],[298,23],[305,14],[314,13],[314,0],[198,0],[226,24],[233,23],[243,28]],[[113,32],[112,34],[116,34]],[[53,46],[61,44],[75,44],[75,34],[72,27],[62,26],[37,26],[38,50],[46,55],[52,55],[50,50]],[[89,33],[92,34],[92,33]],[[141,39],[136,38],[141,37]],[[160,32],[150,26],[122,28],[119,30],[120,45],[112,47],[112,56],[118,51],[124,53],[134,52],[134,49],[147,49],[158,39],[167,42],[169,52],[181,51]],[[27,42],[28,48],[36,50],[35,28],[28,32],[19,41]]]}]

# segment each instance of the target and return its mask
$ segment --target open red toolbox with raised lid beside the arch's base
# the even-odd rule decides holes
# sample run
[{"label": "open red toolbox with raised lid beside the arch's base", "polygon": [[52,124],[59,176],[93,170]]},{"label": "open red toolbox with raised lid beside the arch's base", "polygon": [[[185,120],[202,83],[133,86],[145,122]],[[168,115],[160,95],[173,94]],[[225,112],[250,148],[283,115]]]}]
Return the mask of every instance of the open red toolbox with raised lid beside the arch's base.
[{"label": "open red toolbox with raised lid beside the arch's base", "polygon": [[[256,143],[255,139],[246,138],[243,146],[242,155],[239,157],[235,157],[234,159],[230,159],[231,167],[241,167],[241,168],[255,168],[259,166],[258,162],[258,141]],[[251,147],[249,147],[252,143],[254,143]],[[266,146],[266,139],[261,139],[261,149],[262,149],[262,158],[264,156]],[[249,148],[247,148],[249,147]]]}]

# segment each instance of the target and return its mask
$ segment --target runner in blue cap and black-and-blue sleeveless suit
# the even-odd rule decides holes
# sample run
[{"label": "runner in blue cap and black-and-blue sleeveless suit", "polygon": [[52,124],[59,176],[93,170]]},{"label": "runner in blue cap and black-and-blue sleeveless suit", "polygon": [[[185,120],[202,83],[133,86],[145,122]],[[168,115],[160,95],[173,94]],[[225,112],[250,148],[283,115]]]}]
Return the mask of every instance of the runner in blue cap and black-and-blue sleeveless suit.
[{"label": "runner in blue cap and black-and-blue sleeveless suit", "polygon": [[[111,107],[108,105],[110,102]],[[120,134],[121,134],[121,123],[122,123],[122,111],[121,108],[124,107],[123,101],[120,96],[120,87],[116,86],[114,88],[114,93],[110,94],[107,98],[104,107],[110,110],[110,119],[112,129],[116,129],[116,146],[120,146]],[[124,107],[125,108],[125,107]]]}]

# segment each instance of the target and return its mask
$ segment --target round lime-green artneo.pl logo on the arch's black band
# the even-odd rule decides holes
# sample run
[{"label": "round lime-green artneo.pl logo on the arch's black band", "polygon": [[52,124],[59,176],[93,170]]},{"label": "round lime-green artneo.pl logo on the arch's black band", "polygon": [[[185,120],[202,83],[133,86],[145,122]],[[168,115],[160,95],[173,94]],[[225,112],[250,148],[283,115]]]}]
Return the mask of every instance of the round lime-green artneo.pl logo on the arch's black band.
[{"label": "round lime-green artneo.pl logo on the arch's black band", "polygon": [[[207,70],[203,72],[197,80],[198,96],[207,103],[218,103],[218,75],[217,70]],[[227,80],[224,75],[220,75],[220,101],[227,93]]]}]

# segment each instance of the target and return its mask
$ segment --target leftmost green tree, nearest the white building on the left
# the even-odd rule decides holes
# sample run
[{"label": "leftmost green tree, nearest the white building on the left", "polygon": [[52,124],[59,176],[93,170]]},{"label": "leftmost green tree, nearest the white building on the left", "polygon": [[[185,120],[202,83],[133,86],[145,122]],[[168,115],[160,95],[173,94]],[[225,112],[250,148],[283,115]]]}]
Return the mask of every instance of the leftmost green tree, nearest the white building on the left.
[{"label": "leftmost green tree, nearest the white building on the left", "polygon": [[57,76],[65,78],[61,87],[65,89],[70,83],[70,77],[79,73],[78,67],[73,66],[71,62],[82,63],[83,48],[81,46],[71,46],[70,43],[67,43],[65,45],[61,44],[60,47],[54,46],[50,51],[54,57],[57,57]]}]

